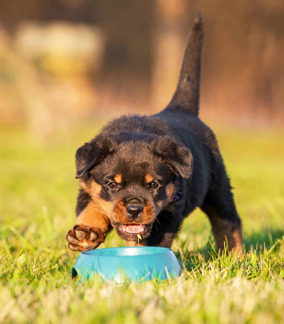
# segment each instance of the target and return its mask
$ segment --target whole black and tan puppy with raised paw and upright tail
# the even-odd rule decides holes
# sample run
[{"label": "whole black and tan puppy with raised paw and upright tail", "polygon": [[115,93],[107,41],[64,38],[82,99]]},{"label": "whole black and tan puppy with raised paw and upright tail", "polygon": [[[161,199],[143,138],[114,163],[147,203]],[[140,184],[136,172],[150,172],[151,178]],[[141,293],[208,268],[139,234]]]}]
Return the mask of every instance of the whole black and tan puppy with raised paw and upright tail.
[{"label": "whole black and tan puppy with raised paw and upright tail", "polygon": [[80,190],[73,251],[95,249],[111,229],[126,241],[171,247],[196,207],[209,217],[217,247],[242,254],[241,220],[213,132],[198,117],[199,15],[189,34],[176,92],[152,116],[122,116],[76,152]]}]

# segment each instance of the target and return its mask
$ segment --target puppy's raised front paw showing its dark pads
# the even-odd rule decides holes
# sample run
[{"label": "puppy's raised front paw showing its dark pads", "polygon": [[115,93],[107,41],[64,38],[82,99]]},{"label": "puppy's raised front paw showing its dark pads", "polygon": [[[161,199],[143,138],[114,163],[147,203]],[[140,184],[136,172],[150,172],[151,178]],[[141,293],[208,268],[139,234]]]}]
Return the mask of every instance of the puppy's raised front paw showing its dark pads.
[{"label": "puppy's raised front paw showing its dark pads", "polygon": [[69,249],[83,252],[96,249],[105,241],[105,237],[104,232],[97,227],[77,224],[67,233],[66,239]]}]

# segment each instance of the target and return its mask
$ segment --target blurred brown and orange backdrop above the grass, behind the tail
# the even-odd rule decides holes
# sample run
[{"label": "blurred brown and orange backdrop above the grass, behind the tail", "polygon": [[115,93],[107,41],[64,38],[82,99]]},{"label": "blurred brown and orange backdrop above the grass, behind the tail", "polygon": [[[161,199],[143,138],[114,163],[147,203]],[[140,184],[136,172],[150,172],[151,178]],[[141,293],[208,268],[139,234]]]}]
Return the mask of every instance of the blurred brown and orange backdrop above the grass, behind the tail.
[{"label": "blurred brown and orange backdrop above the grass, behind the tail", "polygon": [[205,122],[284,121],[283,0],[2,0],[0,123],[46,137],[165,107],[187,33],[205,21]]}]

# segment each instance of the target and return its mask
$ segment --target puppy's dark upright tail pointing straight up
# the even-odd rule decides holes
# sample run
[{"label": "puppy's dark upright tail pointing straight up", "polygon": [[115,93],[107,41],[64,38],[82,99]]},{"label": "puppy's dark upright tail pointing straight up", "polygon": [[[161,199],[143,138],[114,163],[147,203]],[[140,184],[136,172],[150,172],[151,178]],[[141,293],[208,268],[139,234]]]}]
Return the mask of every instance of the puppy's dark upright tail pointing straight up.
[{"label": "puppy's dark upright tail pointing straight up", "polygon": [[203,21],[199,13],[188,35],[176,92],[165,110],[181,109],[198,116],[203,35]]}]

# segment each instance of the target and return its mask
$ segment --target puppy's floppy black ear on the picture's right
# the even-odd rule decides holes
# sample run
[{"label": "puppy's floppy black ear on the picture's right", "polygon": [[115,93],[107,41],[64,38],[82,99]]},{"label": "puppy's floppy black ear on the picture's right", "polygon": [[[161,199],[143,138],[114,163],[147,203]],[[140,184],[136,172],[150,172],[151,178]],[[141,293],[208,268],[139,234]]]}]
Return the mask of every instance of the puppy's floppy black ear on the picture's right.
[{"label": "puppy's floppy black ear on the picture's right", "polygon": [[154,142],[153,152],[161,156],[176,175],[179,173],[184,179],[191,177],[193,156],[181,143],[172,140],[169,136],[161,136]]}]

